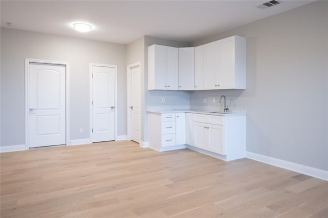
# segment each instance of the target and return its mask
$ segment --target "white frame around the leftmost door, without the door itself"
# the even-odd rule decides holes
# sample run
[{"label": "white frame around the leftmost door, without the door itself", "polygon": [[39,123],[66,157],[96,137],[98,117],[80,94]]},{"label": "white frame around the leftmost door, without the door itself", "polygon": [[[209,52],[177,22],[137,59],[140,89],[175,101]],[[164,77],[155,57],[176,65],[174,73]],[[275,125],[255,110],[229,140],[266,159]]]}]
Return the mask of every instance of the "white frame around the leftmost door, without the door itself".
[{"label": "white frame around the leftmost door, without the door itself", "polygon": [[41,60],[41,59],[31,59],[25,58],[25,149],[30,149],[30,132],[29,132],[29,75],[30,75],[30,63],[38,64],[57,64],[65,65],[66,71],[66,146],[69,145],[70,141],[70,63],[67,61],[53,61],[53,60]]}]

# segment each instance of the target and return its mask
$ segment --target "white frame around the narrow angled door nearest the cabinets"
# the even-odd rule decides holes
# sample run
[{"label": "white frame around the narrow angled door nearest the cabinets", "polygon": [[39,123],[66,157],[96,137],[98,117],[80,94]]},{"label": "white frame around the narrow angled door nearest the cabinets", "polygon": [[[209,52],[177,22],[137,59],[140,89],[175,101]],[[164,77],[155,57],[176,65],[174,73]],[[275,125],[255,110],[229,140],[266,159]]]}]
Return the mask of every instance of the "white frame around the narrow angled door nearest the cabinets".
[{"label": "white frame around the narrow angled door nearest the cabinets", "polygon": [[[133,64],[129,64],[127,67],[127,133],[128,133],[128,140],[131,140],[131,116],[132,116],[132,110],[130,110],[131,107],[131,77],[132,77],[132,69],[135,67],[139,67],[140,69],[140,83],[141,83],[141,62],[136,62]],[[141,84],[140,84],[140,88],[141,88]],[[140,90],[140,120],[139,120],[139,130],[140,130],[140,134],[139,134],[139,143],[141,140],[141,90]]]}]

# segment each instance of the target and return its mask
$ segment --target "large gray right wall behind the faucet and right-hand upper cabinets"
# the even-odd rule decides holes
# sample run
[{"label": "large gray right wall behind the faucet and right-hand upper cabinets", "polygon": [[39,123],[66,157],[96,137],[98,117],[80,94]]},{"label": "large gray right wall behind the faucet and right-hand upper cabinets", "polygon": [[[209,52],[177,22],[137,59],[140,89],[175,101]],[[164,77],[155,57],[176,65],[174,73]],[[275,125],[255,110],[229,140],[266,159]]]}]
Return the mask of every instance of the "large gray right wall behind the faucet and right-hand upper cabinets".
[{"label": "large gray right wall behind the faucet and right-hand upper cabinets", "polygon": [[327,8],[315,2],[194,42],[246,37],[247,88],[193,91],[191,105],[225,94],[247,107],[247,151],[327,170]]}]

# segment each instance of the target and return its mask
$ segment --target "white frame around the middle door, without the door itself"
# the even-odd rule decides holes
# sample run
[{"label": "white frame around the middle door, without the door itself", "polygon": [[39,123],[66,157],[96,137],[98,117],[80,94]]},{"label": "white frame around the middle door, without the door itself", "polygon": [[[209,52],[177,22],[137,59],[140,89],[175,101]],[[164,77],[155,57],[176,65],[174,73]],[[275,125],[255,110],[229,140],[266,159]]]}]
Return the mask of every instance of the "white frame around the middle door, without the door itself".
[{"label": "white frame around the middle door, without the door itself", "polygon": [[90,63],[89,64],[89,111],[90,111],[90,143],[93,143],[92,140],[92,123],[93,123],[93,118],[92,118],[92,66],[100,66],[100,67],[114,67],[115,68],[115,78],[114,78],[114,106],[115,106],[115,110],[114,110],[114,137],[115,137],[115,141],[117,140],[117,110],[118,110],[118,106],[117,106],[117,65],[111,65],[111,64],[97,64],[97,63]]}]

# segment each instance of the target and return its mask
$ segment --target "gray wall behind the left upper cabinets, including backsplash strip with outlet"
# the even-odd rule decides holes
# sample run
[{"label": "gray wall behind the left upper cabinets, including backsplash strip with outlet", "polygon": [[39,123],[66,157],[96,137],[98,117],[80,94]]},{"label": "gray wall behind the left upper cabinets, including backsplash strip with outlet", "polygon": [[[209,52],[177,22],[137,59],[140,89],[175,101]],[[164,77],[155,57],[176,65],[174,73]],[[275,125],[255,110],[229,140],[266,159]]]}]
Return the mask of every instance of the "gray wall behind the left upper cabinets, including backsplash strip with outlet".
[{"label": "gray wall behind the left upper cabinets, including backsplash strip with outlet", "polygon": [[[173,47],[188,47],[189,43],[161,39],[156,37],[145,36],[145,107],[150,106],[189,106],[190,92],[188,91],[164,91],[164,90],[148,90],[148,46],[152,44],[167,45]],[[161,99],[165,98],[165,103]],[[141,135],[142,141],[148,141],[148,116],[145,111],[145,134]]]}]

